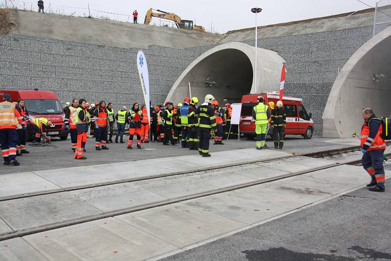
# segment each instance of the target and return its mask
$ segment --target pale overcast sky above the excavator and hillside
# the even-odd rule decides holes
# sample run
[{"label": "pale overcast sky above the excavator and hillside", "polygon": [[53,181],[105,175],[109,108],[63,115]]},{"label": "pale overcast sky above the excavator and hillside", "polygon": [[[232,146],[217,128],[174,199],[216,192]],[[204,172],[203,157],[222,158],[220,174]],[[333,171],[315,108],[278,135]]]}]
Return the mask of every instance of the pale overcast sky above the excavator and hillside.
[{"label": "pale overcast sky above the excavator and hillside", "polygon": [[[371,6],[376,2],[375,0],[362,1]],[[36,1],[30,0],[31,2],[36,6]],[[196,24],[203,25],[208,31],[213,23],[215,31],[219,33],[255,26],[255,15],[250,11],[255,6],[263,9],[258,15],[259,25],[278,24],[369,8],[357,0],[44,0],[44,2],[45,7],[51,4],[53,9],[54,6],[61,5],[87,7],[87,3],[91,9],[120,14],[131,14],[134,9],[137,9],[139,23],[144,22],[149,8],[161,9],[173,12],[185,20],[195,20]],[[381,3],[390,4],[391,0],[382,0]],[[78,9],[66,8],[67,12],[71,10]],[[78,11],[76,15],[85,12],[80,9]]]}]

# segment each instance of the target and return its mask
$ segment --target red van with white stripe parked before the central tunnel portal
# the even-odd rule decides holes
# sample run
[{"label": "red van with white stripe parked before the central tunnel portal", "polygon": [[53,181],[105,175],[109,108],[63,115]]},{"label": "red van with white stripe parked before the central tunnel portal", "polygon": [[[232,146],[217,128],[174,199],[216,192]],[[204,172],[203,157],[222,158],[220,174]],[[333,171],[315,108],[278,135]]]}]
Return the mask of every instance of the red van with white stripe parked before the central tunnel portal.
[{"label": "red van with white stripe parked before the central tunnel portal", "polygon": [[[274,104],[277,104],[280,99],[278,92],[243,95],[241,98],[240,133],[243,133],[249,140],[256,136],[252,112],[254,106],[258,105],[259,96],[262,96],[266,103],[273,101]],[[311,119],[312,114],[308,114],[304,108],[303,99],[283,96],[282,103],[286,114],[285,134],[302,135],[304,139],[311,139],[314,133],[314,122]],[[269,129],[268,135],[272,134],[273,130]]]}]

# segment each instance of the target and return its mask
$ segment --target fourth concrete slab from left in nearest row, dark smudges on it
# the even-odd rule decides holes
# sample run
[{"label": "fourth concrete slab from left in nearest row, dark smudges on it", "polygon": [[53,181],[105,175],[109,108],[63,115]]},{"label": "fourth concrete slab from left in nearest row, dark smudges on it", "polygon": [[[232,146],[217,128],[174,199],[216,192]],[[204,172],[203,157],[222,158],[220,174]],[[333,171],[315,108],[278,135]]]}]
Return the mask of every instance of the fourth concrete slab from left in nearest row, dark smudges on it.
[{"label": "fourth concrete slab from left in nearest row, dark smudges on it", "polygon": [[248,196],[234,191],[184,201],[183,204],[248,225],[291,210],[289,206],[269,203],[259,196]]}]

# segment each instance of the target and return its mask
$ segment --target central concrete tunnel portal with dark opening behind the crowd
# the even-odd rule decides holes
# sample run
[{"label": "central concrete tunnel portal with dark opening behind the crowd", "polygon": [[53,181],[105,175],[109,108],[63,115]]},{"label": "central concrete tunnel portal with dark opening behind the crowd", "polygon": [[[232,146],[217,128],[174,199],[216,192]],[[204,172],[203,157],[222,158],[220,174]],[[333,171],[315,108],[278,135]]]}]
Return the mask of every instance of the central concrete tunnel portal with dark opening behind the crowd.
[{"label": "central concrete tunnel portal with dark opening behind the crowd", "polygon": [[[255,47],[243,43],[229,43],[214,47],[200,55],[179,76],[166,101],[175,104],[190,96],[203,101],[212,94],[220,104],[240,102],[249,93],[277,91],[282,63],[285,61],[274,51],[258,48],[258,74],[255,71]],[[257,78],[257,86],[254,79]]]}]

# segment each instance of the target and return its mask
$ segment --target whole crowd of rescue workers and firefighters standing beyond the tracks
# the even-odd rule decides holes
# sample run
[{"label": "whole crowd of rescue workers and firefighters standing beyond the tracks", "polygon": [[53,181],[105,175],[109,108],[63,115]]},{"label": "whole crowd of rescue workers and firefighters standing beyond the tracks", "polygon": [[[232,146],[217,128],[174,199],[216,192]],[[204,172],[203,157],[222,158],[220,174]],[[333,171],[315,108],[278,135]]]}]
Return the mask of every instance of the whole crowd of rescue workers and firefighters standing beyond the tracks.
[{"label": "whole crowd of rescue workers and firefighters standing beyond the tracks", "polygon": [[[85,99],[72,100],[64,107],[65,128],[69,129],[71,149],[74,158],[85,160],[87,133],[95,137],[95,149],[108,150],[108,143],[113,142],[113,125],[117,121],[115,143],[125,143],[125,127],[129,126],[129,140],[127,148],[132,149],[133,138],[136,136],[136,147],[141,149],[142,142],[163,142],[163,145],[181,144],[182,148],[197,150],[202,157],[210,157],[209,141],[214,139],[215,145],[224,145],[223,139],[235,138],[238,135],[238,125],[231,126],[232,108],[229,103],[219,107],[213,95],[206,95],[204,102],[199,104],[197,97],[186,97],[183,103],[174,106],[166,102],[165,106],[149,106],[151,122],[148,119],[147,107],[140,108],[134,103],[130,110],[123,106],[116,114],[113,104],[105,101],[89,105]],[[269,106],[274,107],[270,102]],[[274,128],[274,145],[276,149],[283,146],[283,128],[286,124],[285,111],[282,102],[277,102],[273,111],[263,98],[259,97],[259,104],[254,107],[253,118],[256,124],[256,149],[267,148],[265,138],[269,126]],[[16,156],[27,154],[26,126],[29,122],[33,130],[32,145],[49,142],[46,126],[52,123],[45,118],[32,118],[24,108],[22,99],[11,101],[11,96],[3,95],[0,103],[0,142],[4,165],[19,166]],[[119,142],[118,142],[119,139]]]}]

